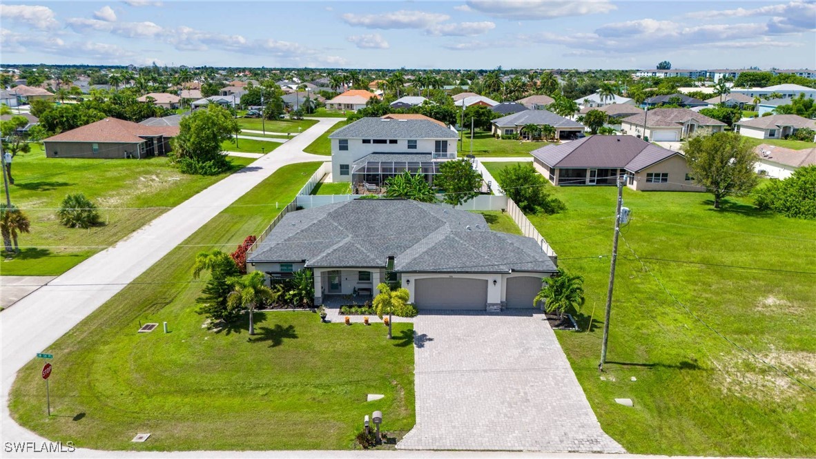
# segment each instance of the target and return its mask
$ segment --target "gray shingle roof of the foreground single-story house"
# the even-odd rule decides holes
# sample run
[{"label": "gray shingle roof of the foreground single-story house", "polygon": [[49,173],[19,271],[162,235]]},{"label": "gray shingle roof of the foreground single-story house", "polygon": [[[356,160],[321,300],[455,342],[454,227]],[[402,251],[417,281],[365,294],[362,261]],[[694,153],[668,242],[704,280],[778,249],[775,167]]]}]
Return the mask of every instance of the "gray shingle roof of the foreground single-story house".
[{"label": "gray shingle roof of the foreground single-story house", "polygon": [[290,212],[248,261],[385,267],[388,257],[401,272],[556,271],[533,239],[490,231],[480,214],[383,199]]}]

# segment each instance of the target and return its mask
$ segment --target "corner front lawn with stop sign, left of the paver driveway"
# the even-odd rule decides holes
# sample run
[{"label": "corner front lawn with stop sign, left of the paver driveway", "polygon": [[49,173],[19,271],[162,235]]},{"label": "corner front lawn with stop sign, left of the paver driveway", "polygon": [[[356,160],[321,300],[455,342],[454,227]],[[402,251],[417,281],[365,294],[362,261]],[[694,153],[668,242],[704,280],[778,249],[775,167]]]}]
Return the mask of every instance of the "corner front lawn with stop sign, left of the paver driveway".
[{"label": "corner front lawn with stop sign, left of the paver driveway", "polygon": [[[283,167],[216,215],[82,320],[54,355],[51,417],[32,360],[11,390],[11,414],[48,439],[106,450],[348,449],[362,417],[385,414],[386,430],[415,423],[411,324],[320,324],[316,313],[255,314],[220,333],[202,328],[193,280],[199,250],[233,250],[259,234],[320,166]],[[206,276],[202,279],[206,280]],[[168,322],[171,333],[162,332]],[[151,333],[139,325],[158,323]],[[366,403],[366,394],[384,394]],[[131,443],[149,432],[145,443]]]}]

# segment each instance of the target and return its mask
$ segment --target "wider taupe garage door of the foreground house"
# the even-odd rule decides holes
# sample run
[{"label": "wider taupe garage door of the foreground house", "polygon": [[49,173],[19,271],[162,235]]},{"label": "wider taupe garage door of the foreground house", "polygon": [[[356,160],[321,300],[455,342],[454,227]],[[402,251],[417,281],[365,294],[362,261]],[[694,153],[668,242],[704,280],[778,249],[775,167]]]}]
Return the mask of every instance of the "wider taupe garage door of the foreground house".
[{"label": "wider taupe garage door of the foreground house", "polygon": [[417,309],[459,309],[484,311],[487,307],[487,280],[418,279],[414,289]]}]

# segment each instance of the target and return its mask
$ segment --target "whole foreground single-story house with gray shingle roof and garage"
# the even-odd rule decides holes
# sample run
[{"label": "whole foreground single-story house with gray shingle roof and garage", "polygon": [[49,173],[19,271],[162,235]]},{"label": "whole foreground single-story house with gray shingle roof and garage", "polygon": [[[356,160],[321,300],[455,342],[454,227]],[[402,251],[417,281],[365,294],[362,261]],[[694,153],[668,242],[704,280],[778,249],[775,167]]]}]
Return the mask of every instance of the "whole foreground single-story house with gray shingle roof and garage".
[{"label": "whole foreground single-story house with gray shingle roof and garage", "polygon": [[361,303],[390,280],[419,310],[532,309],[557,271],[534,239],[494,232],[481,214],[385,199],[290,212],[246,263],[270,278],[312,269],[316,304]]}]

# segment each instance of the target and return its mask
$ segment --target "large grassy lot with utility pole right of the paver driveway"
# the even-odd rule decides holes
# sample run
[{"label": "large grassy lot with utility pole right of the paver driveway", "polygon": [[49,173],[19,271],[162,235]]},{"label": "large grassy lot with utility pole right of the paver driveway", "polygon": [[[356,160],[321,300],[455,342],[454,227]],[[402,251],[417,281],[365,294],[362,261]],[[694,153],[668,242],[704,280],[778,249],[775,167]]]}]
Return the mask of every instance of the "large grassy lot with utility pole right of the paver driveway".
[{"label": "large grassy lot with utility pole right of the paver driveway", "polygon": [[559,266],[585,279],[581,331],[557,337],[603,429],[638,454],[814,457],[816,391],[732,346],[683,307],[816,386],[814,223],[760,212],[750,197],[714,210],[707,193],[624,188],[632,219],[621,231],[601,374],[616,189],[549,188],[567,210],[529,217]]}]

